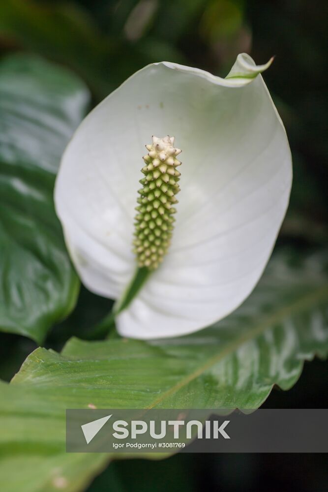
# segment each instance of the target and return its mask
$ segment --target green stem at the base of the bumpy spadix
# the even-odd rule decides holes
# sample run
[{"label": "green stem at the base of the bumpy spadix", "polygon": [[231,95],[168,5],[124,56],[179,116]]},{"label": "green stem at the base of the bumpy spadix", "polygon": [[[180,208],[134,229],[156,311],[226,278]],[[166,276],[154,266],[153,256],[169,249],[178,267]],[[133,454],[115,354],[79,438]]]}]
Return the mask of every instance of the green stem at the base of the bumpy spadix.
[{"label": "green stem at the base of the bumpy spadix", "polygon": [[[85,335],[84,338],[87,340],[98,340],[108,336],[110,330],[115,328],[115,317],[130,305],[131,301],[143,287],[150,273],[151,271],[147,267],[138,268],[119,302],[114,304],[111,312],[89,334]],[[114,336],[114,332],[112,334]]]}]

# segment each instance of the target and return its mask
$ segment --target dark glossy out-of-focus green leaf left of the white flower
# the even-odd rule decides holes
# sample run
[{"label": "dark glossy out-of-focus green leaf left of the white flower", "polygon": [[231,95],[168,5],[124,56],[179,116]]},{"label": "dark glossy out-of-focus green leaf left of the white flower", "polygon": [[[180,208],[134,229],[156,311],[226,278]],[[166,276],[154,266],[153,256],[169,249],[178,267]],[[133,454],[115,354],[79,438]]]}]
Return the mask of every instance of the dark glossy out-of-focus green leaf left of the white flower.
[{"label": "dark glossy out-of-focus green leaf left of the white flower", "polygon": [[0,329],[37,342],[78,293],[53,186],[88,101],[75,76],[41,59],[0,64]]}]

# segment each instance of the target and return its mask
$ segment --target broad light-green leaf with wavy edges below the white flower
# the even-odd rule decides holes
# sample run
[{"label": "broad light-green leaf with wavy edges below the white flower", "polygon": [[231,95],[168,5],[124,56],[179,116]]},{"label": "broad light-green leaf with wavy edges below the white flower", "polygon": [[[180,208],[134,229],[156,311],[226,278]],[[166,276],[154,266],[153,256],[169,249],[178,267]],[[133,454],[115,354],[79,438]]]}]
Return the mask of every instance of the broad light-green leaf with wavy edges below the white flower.
[{"label": "broad light-green leaf with wavy edges below the white flower", "polygon": [[[110,455],[65,455],[65,409],[256,408],[290,388],[303,361],[328,352],[327,255],[273,259],[250,298],[196,334],[169,340],[71,339],[38,348],[2,384],[0,462],[6,492],[84,490]],[[153,456],[154,458],[154,456]],[[10,470],[20,468],[20,473]],[[33,471],[34,470],[34,471]]]}]

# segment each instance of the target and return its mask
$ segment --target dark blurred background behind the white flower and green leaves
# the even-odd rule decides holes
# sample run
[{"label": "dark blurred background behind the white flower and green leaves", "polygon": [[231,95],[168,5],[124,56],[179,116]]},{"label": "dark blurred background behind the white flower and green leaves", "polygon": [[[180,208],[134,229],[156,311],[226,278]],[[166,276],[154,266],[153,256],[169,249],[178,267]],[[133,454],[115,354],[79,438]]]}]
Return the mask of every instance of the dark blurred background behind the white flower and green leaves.
[{"label": "dark blurred background behind the white flower and green leaves", "polygon": [[[69,67],[96,104],[129,75],[162,60],[225,76],[240,52],[256,63],[275,55],[265,80],[285,124],[294,164],[291,205],[279,246],[327,244],[327,1],[306,0],[1,0],[0,56],[30,52]],[[326,131],[325,131],[326,130]],[[87,329],[108,301],[81,290],[79,308],[55,327],[60,349],[74,326]],[[78,316],[78,319],[77,319]],[[73,327],[73,328],[72,328]],[[9,380],[35,348],[0,334],[0,377]],[[327,363],[305,364],[288,393],[266,407],[327,407]],[[323,455],[177,455],[164,461],[112,463],[88,492],[328,491]]]}]

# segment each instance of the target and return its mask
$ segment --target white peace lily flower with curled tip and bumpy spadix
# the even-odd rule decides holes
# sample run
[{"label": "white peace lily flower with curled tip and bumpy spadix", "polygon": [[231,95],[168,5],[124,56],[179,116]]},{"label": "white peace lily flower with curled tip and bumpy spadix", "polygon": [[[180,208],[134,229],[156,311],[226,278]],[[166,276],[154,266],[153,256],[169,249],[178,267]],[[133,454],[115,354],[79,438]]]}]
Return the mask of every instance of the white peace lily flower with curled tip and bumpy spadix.
[{"label": "white peace lily flower with curled tip and bumpy spadix", "polygon": [[[57,213],[87,288],[116,300],[128,291],[117,305],[121,335],[204,328],[261,277],[292,182],[286,132],[260,75],[270,63],[241,54],[225,79],[150,64],[93,109],[68,144]],[[131,291],[138,264],[144,283],[138,290],[132,281]]]}]

